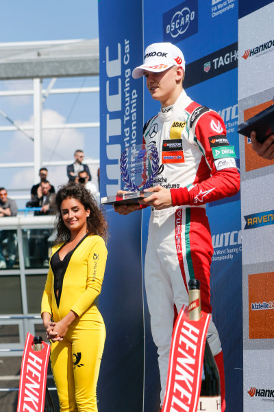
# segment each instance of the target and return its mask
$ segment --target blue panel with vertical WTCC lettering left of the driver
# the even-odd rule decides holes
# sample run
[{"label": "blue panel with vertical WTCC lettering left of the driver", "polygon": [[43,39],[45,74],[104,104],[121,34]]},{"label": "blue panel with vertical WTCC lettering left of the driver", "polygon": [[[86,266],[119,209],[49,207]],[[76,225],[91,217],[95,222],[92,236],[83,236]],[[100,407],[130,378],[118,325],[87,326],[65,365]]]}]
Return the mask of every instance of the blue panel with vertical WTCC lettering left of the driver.
[{"label": "blue panel with vertical WTCC lettering left of the driver", "polygon": [[[100,194],[103,197],[114,196],[123,189],[121,154],[142,144],[142,80],[132,78],[132,70],[143,57],[142,1],[99,0],[98,11]],[[111,206],[105,210],[110,238],[100,312],[108,339],[97,386],[99,409],[142,411],[145,386],[142,214],[136,211],[119,216]]]}]

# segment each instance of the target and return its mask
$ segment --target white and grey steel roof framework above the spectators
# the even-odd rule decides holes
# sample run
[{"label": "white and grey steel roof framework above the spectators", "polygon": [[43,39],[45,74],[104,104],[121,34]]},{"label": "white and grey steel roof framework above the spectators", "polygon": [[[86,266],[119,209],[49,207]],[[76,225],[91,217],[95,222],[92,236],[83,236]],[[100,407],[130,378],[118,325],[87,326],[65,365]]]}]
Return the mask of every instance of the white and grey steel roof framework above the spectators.
[{"label": "white and grey steel roof framework above the spectators", "polygon": [[[0,91],[0,96],[33,95],[34,123],[18,126],[6,113],[0,111],[10,126],[0,126],[0,132],[20,130],[27,135],[33,131],[34,161],[0,163],[0,168],[34,168],[36,181],[41,166],[64,165],[71,161],[42,162],[42,131],[67,128],[99,128],[98,122],[42,125],[42,104],[48,95],[63,93],[98,93],[99,87],[54,89],[56,78],[99,75],[99,40],[40,41],[23,43],[0,43],[0,80],[32,79],[33,89]],[[42,89],[42,79],[52,78],[47,89]],[[99,166],[99,159],[93,164]],[[16,198],[16,196],[14,196]],[[22,196],[18,197],[22,198]]]}]

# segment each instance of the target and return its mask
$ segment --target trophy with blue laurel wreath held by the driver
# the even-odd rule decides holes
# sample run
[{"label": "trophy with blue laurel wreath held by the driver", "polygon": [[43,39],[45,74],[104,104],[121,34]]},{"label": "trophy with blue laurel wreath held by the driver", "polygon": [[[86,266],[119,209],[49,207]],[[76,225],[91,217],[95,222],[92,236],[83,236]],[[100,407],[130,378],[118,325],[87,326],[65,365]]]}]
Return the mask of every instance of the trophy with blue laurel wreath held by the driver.
[{"label": "trophy with blue laurel wreath held by the driver", "polygon": [[155,146],[140,144],[126,148],[120,158],[120,169],[123,190],[127,193],[121,196],[106,196],[101,198],[103,205],[138,203],[138,200],[150,196],[151,192],[144,192],[151,187],[159,169],[158,150]]}]

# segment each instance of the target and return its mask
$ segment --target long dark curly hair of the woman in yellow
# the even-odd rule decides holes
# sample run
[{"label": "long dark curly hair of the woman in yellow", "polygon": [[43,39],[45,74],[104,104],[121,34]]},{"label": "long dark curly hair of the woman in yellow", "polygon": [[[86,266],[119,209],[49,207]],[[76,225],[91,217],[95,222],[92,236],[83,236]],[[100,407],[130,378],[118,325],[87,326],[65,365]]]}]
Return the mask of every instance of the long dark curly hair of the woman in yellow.
[{"label": "long dark curly hair of the woman in yellow", "polygon": [[55,196],[57,207],[56,242],[66,242],[71,238],[71,231],[64,224],[61,214],[62,201],[67,198],[75,198],[82,203],[85,209],[90,209],[90,216],[86,219],[88,233],[90,235],[99,235],[106,241],[108,239],[108,223],[105,221],[103,209],[84,185],[69,183],[61,186]]}]

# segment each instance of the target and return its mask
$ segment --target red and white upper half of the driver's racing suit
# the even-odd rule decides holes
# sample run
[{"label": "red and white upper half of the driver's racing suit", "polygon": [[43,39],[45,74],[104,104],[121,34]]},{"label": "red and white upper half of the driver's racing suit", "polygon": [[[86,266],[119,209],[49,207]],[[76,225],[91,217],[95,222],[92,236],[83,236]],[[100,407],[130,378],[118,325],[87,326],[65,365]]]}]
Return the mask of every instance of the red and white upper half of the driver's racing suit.
[{"label": "red and white upper half of the driver's racing suit", "polygon": [[[183,103],[183,107],[180,103]],[[190,100],[184,91],[175,102],[173,111],[176,111],[178,106],[182,111],[179,115],[171,111],[159,113],[144,126],[143,142],[148,146],[156,142],[160,157],[163,141],[172,139],[172,129],[180,129],[180,124],[183,126],[181,134],[178,133],[180,130],[174,130],[173,139],[182,139],[184,161],[177,163],[174,156],[174,159],[169,159],[170,163],[163,163],[164,170],[161,171],[160,168],[159,176],[164,176],[167,180],[162,184],[158,178],[154,185],[159,182],[171,189],[173,206],[201,206],[233,196],[240,188],[240,174],[234,157],[225,157],[222,154],[218,157],[216,154],[214,159],[212,153],[212,148],[229,146],[223,119],[215,111]],[[169,123],[167,130],[164,127],[166,123]]]}]

